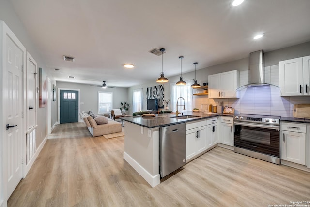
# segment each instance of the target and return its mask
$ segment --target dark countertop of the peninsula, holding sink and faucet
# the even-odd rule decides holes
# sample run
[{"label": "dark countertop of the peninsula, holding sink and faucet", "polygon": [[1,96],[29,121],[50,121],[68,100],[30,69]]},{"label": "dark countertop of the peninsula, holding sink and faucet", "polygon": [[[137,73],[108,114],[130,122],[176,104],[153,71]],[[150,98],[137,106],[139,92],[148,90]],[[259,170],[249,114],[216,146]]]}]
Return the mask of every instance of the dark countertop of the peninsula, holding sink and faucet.
[{"label": "dark countertop of the peninsula, holding sink and faucet", "polygon": [[[173,118],[176,115],[171,113],[164,113],[164,114],[156,114],[155,117],[142,117],[142,116],[128,116],[128,117],[121,117],[123,121],[128,121],[137,125],[140,125],[142,127],[147,128],[155,128],[155,127],[165,127],[169,125],[174,124],[180,124],[180,123],[186,123],[190,121],[197,121],[197,120],[203,120],[207,118],[212,118],[220,115],[224,116],[233,116],[233,114],[222,114],[222,113],[211,113],[206,114],[203,112],[184,112],[183,115],[194,115],[197,117],[194,118],[188,118],[188,119],[176,119]],[[182,116],[179,114],[179,116]]]}]

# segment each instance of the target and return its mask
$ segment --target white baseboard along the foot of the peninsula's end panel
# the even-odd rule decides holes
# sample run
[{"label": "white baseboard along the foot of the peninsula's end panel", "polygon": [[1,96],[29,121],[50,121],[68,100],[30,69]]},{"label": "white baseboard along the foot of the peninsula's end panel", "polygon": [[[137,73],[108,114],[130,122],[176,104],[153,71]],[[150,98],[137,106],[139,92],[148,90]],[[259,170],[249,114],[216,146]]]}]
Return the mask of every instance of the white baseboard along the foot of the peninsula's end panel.
[{"label": "white baseboard along the foot of the peninsula's end panel", "polygon": [[134,160],[130,155],[124,152],[123,155],[124,160],[128,162],[145,180],[150,184],[152,188],[160,183],[160,175],[159,172],[157,175],[153,176],[148,171],[146,171],[136,160]]}]

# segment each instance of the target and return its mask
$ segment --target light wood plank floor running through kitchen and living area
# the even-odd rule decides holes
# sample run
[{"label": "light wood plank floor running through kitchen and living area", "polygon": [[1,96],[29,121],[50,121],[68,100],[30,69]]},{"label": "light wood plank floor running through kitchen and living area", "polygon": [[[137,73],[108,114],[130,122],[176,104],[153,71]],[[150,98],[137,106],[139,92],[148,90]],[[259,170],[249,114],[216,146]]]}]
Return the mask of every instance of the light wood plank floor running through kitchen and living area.
[{"label": "light wood plank floor running through kitchen and living area", "polygon": [[151,188],[123,159],[124,137],[58,125],[9,207],[268,207],[310,200],[310,173],[216,147]]}]

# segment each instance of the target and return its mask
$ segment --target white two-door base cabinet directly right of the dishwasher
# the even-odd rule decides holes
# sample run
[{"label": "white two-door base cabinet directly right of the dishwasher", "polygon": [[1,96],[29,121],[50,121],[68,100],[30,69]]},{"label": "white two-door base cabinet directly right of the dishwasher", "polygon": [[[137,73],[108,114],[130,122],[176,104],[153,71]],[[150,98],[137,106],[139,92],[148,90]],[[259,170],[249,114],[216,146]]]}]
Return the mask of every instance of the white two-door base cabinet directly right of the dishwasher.
[{"label": "white two-door base cabinet directly right of the dishwasher", "polygon": [[186,160],[207,149],[206,120],[186,123]]}]

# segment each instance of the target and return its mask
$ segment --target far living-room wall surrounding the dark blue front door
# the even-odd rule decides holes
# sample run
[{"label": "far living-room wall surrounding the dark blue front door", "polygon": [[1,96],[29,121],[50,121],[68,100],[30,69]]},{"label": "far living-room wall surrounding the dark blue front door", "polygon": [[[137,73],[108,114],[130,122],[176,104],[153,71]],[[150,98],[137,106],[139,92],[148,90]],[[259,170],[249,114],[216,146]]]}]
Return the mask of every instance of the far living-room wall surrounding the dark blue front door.
[{"label": "far living-room wall surrounding the dark blue front door", "polygon": [[[80,111],[93,111],[97,114],[98,111],[98,91],[113,92],[113,109],[119,109],[121,107],[121,102],[128,102],[128,89],[127,88],[106,88],[92,87],[88,84],[78,84],[69,82],[58,82],[57,81],[57,91],[58,88],[69,88],[69,89],[80,89],[81,90],[81,109]],[[57,97],[59,98],[59,97]],[[129,109],[132,107],[130,104]]]}]

